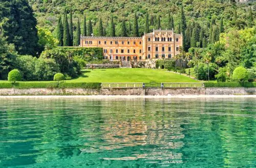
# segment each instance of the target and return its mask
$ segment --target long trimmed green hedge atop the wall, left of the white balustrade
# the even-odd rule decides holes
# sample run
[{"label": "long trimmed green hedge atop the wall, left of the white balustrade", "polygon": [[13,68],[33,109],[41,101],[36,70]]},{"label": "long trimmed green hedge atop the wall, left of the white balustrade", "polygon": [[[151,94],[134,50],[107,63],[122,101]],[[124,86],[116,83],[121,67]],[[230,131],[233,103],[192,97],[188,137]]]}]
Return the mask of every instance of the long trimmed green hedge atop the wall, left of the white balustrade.
[{"label": "long trimmed green hedge atop the wall, left of the white balustrade", "polygon": [[32,89],[32,88],[83,88],[100,89],[101,83],[83,83],[83,82],[3,82],[0,88]]}]

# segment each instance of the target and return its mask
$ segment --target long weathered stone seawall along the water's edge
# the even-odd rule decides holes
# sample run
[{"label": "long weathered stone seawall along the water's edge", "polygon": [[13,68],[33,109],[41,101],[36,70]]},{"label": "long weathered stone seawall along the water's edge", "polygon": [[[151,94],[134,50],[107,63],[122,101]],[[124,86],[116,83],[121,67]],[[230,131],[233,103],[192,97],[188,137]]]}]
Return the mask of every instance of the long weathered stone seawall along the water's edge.
[{"label": "long weathered stone seawall along the water's edge", "polygon": [[0,95],[256,95],[256,88],[101,88],[101,89],[0,89]]}]

